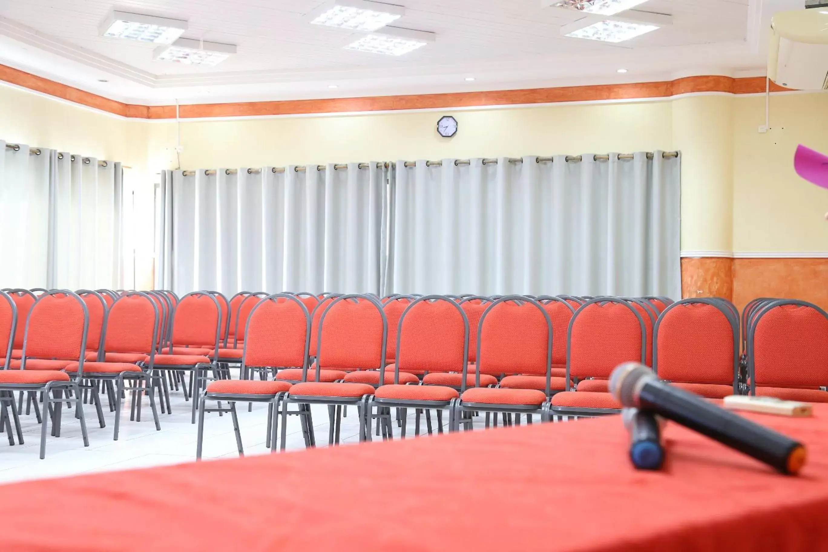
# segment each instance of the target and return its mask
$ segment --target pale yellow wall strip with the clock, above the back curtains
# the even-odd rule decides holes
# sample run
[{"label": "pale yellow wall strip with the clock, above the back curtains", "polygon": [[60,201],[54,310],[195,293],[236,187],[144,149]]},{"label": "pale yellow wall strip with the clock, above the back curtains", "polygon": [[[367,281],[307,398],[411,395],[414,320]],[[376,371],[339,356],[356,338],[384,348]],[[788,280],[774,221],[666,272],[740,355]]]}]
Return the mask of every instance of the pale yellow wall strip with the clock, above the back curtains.
[{"label": "pale yellow wall strip with the clock, above the back curtains", "polygon": [[[440,137],[453,115],[459,132]],[[151,150],[176,166],[174,122],[152,122]],[[182,122],[185,169],[666,149],[669,102]]]}]

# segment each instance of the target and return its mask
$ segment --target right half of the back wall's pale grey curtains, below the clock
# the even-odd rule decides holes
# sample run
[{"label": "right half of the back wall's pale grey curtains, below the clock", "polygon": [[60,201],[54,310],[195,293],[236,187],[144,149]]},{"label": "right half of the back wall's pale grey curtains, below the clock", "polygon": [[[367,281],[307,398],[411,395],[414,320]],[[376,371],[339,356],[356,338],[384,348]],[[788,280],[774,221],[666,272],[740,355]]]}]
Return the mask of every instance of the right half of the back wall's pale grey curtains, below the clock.
[{"label": "right half of the back wall's pale grey curtains, below the clock", "polygon": [[384,292],[681,297],[680,157],[398,161]]}]

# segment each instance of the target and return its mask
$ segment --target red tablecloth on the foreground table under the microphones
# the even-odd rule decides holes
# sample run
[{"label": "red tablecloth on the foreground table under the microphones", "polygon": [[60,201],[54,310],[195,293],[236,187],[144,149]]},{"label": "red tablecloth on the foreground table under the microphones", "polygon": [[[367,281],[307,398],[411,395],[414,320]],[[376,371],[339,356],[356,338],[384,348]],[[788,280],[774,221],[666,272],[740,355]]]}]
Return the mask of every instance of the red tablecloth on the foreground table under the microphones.
[{"label": "red tablecloth on the foreground table under the microphones", "polygon": [[752,417],[799,477],[676,425],[636,472],[614,416],[7,485],[0,550],[828,550],[828,406]]}]

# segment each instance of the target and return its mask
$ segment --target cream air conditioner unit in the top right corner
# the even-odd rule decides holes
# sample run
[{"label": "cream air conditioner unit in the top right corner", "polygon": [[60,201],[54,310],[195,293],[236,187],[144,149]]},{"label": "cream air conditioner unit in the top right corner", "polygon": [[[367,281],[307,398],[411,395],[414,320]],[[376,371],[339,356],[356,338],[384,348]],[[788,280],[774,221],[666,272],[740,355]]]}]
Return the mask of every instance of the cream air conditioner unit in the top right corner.
[{"label": "cream air conditioner unit in the top right corner", "polygon": [[828,9],[775,14],[768,44],[768,76],[774,83],[789,89],[828,90]]}]

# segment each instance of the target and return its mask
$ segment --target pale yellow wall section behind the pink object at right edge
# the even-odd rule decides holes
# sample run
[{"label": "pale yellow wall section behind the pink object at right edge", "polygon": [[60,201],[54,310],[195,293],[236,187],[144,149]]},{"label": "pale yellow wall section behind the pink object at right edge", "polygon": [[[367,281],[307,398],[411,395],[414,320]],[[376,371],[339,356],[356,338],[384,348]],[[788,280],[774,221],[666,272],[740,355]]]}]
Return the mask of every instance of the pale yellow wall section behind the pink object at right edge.
[{"label": "pale yellow wall section behind the pink object at right edge", "polygon": [[828,190],[793,170],[797,144],[828,153],[828,94],[763,97],[734,103],[734,225],[737,252],[828,252]]}]

